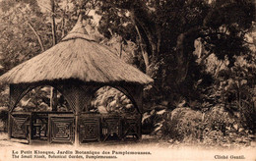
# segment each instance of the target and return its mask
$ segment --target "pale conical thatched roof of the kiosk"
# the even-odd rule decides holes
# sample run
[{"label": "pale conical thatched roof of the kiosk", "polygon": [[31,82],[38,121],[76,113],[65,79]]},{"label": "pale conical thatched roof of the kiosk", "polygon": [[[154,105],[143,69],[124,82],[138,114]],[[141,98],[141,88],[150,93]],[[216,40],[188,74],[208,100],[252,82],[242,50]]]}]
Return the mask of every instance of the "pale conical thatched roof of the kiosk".
[{"label": "pale conical thatched roof of the kiosk", "polygon": [[58,44],[0,77],[0,81],[8,83],[68,79],[142,84],[153,81],[98,44],[87,34],[81,20]]}]

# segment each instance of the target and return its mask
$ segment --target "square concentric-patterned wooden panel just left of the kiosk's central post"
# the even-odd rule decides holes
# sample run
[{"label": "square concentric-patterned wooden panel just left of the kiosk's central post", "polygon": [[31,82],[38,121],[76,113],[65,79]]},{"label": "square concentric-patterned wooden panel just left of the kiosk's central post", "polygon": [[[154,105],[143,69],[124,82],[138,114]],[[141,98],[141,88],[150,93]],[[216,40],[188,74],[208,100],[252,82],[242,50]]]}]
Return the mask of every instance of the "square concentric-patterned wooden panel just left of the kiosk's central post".
[{"label": "square concentric-patterned wooden panel just left of the kiosk's central post", "polygon": [[49,116],[50,142],[74,142],[75,119],[67,116]]}]

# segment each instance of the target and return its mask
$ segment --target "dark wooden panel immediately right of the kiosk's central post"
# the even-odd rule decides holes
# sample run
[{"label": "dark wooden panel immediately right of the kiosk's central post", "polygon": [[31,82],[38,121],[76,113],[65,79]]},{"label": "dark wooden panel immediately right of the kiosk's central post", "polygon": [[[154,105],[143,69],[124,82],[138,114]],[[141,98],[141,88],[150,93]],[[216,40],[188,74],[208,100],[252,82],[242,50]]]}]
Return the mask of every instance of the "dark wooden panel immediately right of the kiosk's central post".
[{"label": "dark wooden panel immediately right of the kiosk's central post", "polygon": [[100,140],[99,117],[81,118],[80,119],[80,142]]}]

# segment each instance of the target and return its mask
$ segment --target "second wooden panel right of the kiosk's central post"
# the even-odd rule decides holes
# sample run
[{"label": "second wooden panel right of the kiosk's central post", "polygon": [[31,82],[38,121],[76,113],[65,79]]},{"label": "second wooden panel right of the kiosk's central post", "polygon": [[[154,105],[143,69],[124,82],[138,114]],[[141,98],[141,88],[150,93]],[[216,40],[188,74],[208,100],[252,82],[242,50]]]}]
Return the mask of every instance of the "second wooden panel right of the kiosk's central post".
[{"label": "second wooden panel right of the kiosk's central post", "polygon": [[103,117],[102,136],[103,141],[121,139],[121,118],[118,116]]}]

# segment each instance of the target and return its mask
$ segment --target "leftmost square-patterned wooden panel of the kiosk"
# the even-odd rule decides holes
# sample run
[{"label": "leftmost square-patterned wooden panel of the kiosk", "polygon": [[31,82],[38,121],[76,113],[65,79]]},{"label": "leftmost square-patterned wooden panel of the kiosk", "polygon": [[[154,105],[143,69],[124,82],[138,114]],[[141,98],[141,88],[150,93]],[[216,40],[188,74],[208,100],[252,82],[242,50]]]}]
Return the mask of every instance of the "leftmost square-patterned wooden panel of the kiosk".
[{"label": "leftmost square-patterned wooden panel of the kiosk", "polygon": [[15,138],[28,138],[30,116],[28,115],[11,115],[11,131],[12,137]]}]

